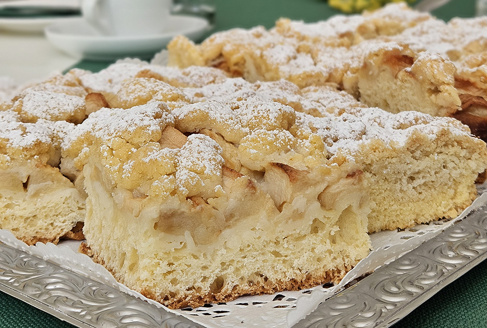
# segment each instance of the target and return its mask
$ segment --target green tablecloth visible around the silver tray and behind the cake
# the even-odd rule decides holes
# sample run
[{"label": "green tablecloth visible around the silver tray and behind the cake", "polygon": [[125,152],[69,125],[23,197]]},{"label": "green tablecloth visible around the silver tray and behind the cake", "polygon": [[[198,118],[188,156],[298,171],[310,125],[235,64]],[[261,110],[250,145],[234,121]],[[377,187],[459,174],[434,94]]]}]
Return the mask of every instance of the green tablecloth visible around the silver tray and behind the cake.
[{"label": "green tablecloth visible around the silver tray and behind the cake", "polygon": [[[280,17],[312,22],[337,14],[324,0],[214,0],[214,3],[215,31],[255,25],[270,28]],[[472,17],[474,10],[474,0],[452,0],[433,14],[449,20]],[[99,71],[108,64],[81,61],[75,67]],[[0,292],[0,328],[65,327],[74,326]],[[439,291],[393,327],[487,328],[487,260]]]}]

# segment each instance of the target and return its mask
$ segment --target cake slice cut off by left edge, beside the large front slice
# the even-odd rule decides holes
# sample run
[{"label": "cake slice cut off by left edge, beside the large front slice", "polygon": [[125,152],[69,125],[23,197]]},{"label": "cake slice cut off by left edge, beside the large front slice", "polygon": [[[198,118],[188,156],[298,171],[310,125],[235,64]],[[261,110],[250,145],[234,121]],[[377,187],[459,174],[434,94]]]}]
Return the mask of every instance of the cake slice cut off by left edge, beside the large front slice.
[{"label": "cake slice cut off by left edge, beside the large front slice", "polygon": [[[68,125],[68,126],[67,126]],[[20,122],[0,111],[0,228],[27,244],[57,243],[84,220],[84,198],[56,167],[66,122]]]}]

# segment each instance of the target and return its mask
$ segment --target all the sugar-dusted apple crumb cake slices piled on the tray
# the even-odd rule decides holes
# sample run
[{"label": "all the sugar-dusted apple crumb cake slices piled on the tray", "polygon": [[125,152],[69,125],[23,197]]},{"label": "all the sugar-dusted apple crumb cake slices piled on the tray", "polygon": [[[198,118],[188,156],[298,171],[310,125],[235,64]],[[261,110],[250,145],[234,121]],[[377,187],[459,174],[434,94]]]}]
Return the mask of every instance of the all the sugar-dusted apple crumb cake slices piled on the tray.
[{"label": "all the sugar-dusted apple crumb cake slices piled on the tray", "polygon": [[487,42],[467,33],[485,26],[404,4],[280,19],[176,37],[178,67],[24,88],[0,104],[0,228],[57,242],[85,221],[84,251],[171,308],[337,281],[368,232],[476,197],[486,144],[435,116],[486,131]]}]

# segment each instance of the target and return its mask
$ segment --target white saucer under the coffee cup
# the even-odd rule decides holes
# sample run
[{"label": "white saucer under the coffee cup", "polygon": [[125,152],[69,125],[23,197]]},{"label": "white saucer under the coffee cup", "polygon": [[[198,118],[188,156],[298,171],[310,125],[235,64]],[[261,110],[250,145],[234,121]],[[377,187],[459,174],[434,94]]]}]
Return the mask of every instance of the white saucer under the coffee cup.
[{"label": "white saucer under the coffee cup", "polygon": [[122,57],[149,58],[164,49],[177,35],[198,39],[209,30],[206,19],[174,15],[169,17],[169,28],[162,34],[150,36],[100,35],[83,18],[71,18],[49,25],[44,33],[60,51],[90,60],[113,60]]}]

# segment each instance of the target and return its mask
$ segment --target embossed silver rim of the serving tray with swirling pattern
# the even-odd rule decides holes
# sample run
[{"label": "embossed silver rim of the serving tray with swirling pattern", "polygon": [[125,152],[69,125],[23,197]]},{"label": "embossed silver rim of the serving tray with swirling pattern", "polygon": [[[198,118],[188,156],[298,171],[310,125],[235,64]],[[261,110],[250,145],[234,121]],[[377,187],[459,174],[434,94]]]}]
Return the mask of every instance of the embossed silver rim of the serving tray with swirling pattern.
[{"label": "embossed silver rim of the serving tray with swirling pattern", "polygon": [[[487,205],[483,205],[321,303],[293,328],[390,327],[486,258]],[[185,317],[3,243],[0,290],[81,328],[202,328]]]}]

